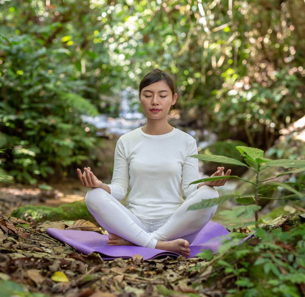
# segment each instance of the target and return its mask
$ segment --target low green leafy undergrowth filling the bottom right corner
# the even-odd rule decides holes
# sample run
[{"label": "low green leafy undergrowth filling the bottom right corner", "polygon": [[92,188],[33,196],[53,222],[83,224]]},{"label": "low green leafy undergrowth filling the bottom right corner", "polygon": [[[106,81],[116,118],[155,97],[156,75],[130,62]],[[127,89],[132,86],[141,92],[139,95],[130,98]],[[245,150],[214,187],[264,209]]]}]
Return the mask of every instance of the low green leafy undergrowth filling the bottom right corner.
[{"label": "low green leafy undergrowth filling the bottom right corner", "polygon": [[[197,274],[192,282],[215,284],[222,279],[228,296],[301,296],[305,283],[305,224],[285,232],[256,228],[256,237],[240,245],[231,245],[237,232],[230,233],[214,254],[211,249],[197,254],[205,261],[190,268]],[[246,244],[247,243],[247,244]],[[210,271],[210,273],[205,273]],[[227,296],[226,294],[226,296]]]}]

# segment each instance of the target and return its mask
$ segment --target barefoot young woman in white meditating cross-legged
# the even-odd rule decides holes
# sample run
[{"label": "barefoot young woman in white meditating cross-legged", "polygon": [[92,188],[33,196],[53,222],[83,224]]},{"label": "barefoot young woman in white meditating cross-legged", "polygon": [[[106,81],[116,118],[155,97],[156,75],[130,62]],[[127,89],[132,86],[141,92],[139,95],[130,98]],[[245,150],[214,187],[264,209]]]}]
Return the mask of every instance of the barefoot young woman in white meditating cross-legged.
[{"label": "barefoot young woman in white meditating cross-legged", "polygon": [[[109,245],[138,245],[174,251],[188,257],[189,244],[216,212],[217,205],[198,210],[187,208],[202,199],[219,197],[213,186],[226,179],[189,185],[199,179],[196,140],[167,122],[177,100],[173,79],[153,69],[140,83],[139,102],[146,124],[117,141],[113,177],[104,184],[90,167],[77,174],[89,187],[88,210],[109,232]],[[228,169],[225,175],[229,175]],[[224,167],[212,176],[224,175]],[[129,187],[127,206],[120,203]],[[182,199],[182,191],[186,199]]]}]

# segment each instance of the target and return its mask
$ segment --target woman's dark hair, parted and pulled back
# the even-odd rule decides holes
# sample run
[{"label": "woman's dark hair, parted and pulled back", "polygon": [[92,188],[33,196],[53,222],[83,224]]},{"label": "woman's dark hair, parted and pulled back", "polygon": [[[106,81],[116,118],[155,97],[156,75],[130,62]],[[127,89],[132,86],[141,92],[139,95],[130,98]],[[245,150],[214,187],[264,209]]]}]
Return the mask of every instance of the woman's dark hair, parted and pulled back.
[{"label": "woman's dark hair, parted and pulled back", "polygon": [[[142,81],[140,82],[139,95],[141,94],[141,91],[143,88],[145,88],[146,86],[153,84],[154,82],[157,82],[157,81],[164,81],[169,86],[170,90],[172,91],[172,96],[174,96],[174,94],[177,93],[174,80],[171,78],[171,76],[169,74],[167,74],[166,72],[164,72],[158,68],[155,68],[155,69],[152,69],[152,71],[150,71],[149,73],[147,73],[144,76],[144,78],[142,79]],[[176,103],[177,103],[177,101],[176,101]],[[176,105],[176,103],[174,105]],[[173,108],[173,105],[170,106],[170,110],[168,111],[169,113],[172,108]]]}]

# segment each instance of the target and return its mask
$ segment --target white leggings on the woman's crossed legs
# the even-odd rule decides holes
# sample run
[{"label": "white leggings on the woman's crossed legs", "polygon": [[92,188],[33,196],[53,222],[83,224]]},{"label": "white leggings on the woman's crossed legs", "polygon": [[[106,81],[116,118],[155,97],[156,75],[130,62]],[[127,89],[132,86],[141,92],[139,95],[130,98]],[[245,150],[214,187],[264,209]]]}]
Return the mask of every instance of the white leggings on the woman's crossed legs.
[{"label": "white leggings on the woman's crossed legs", "polygon": [[156,223],[142,222],[102,188],[89,189],[85,201],[88,210],[108,233],[116,234],[141,247],[155,248],[158,240],[183,238],[192,243],[197,233],[212,218],[218,205],[187,211],[188,206],[202,199],[217,197],[219,195],[215,188],[202,186],[189,194],[166,221]]}]

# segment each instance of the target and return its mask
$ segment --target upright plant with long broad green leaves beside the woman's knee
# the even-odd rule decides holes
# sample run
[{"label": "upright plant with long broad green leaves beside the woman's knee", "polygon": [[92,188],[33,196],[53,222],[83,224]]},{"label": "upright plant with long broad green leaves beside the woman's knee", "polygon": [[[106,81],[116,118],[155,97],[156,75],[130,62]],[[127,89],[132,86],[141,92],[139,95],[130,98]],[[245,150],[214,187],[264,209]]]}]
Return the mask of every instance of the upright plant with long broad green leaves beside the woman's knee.
[{"label": "upright plant with long broad green leaves beside the woman's knee", "polygon": [[[206,155],[206,154],[197,154],[192,155],[191,157],[198,158],[202,161],[212,161],[218,163],[225,163],[225,164],[234,164],[245,166],[248,169],[254,171],[256,173],[256,181],[253,183],[247,179],[240,178],[236,175],[229,175],[229,176],[215,176],[209,178],[202,178],[197,181],[193,181],[191,184],[197,184],[204,181],[215,181],[218,179],[223,178],[238,178],[244,182],[250,183],[255,185],[255,192],[247,195],[223,195],[218,198],[213,199],[203,199],[201,202],[194,203],[188,207],[188,210],[196,210],[196,209],[203,209],[207,207],[211,207],[213,205],[217,205],[223,203],[227,200],[234,199],[240,206],[234,207],[232,210],[223,211],[220,214],[233,216],[238,219],[242,215],[246,215],[249,217],[255,214],[255,226],[258,227],[258,211],[260,210],[260,205],[258,205],[259,200],[261,198],[266,199],[299,199],[305,201],[305,194],[300,192],[303,190],[303,185],[298,183],[283,183],[278,181],[270,181],[276,177],[282,176],[284,174],[291,174],[291,173],[298,173],[305,171],[305,161],[303,160],[290,160],[290,159],[278,159],[272,160],[264,157],[264,151],[253,148],[253,147],[245,147],[245,146],[237,146],[236,149],[240,152],[241,156],[244,158],[244,162],[238,161],[233,158],[225,157],[225,156],[218,156],[218,155]],[[288,167],[288,168],[295,168],[293,170],[286,171],[285,173],[278,174],[273,178],[268,178],[267,180],[260,180],[260,173],[266,169],[267,167]],[[297,186],[298,190],[293,186]],[[262,196],[259,191],[266,188],[278,188],[282,187],[285,188],[287,191],[293,193],[292,195],[285,195],[279,198],[271,198],[271,197],[264,197]]]}]

